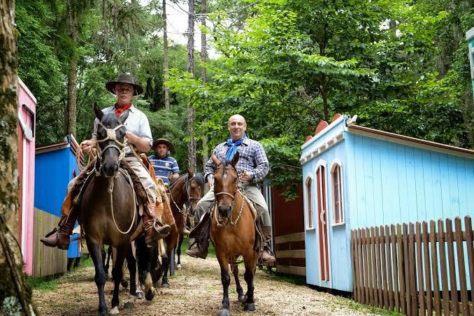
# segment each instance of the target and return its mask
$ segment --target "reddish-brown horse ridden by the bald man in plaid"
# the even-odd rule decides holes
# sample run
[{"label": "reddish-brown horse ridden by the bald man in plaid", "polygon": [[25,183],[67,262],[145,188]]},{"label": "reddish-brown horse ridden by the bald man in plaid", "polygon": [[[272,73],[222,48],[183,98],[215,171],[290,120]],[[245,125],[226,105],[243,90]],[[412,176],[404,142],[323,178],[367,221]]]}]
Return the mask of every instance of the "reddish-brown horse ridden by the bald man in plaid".
[{"label": "reddish-brown horse ridden by the bald man in plaid", "polygon": [[[256,214],[252,213],[240,188],[240,178],[236,171],[238,152],[232,161],[219,161],[213,156],[216,166],[214,171],[215,208],[212,214],[210,239],[213,241],[215,255],[220,265],[224,295],[222,306],[217,315],[229,315],[229,264],[236,280],[238,300],[243,303],[244,310],[255,310],[254,274],[257,267],[257,252],[254,250]],[[247,282],[247,293],[238,280],[236,258],[243,256],[245,265],[244,279]]]}]

